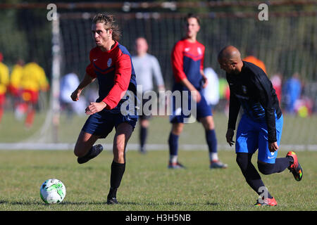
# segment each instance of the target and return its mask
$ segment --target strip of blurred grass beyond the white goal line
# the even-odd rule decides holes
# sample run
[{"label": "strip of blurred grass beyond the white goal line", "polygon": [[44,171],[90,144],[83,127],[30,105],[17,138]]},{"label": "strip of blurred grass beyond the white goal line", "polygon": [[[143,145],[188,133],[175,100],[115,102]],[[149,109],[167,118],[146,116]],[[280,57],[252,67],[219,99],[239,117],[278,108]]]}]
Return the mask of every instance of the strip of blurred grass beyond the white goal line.
[{"label": "strip of blurred grass beyond the white goal line", "polygon": [[[0,124],[0,143],[14,143],[32,139],[37,141],[39,129],[44,123],[46,114],[35,115],[35,124],[31,129],[25,129],[23,121],[15,120],[13,113],[5,113]],[[215,113],[214,121],[216,125],[216,135],[218,143],[225,143],[225,132],[227,131],[228,117],[223,113]],[[80,129],[85,124],[87,116],[75,116],[69,120],[65,115],[61,115],[61,121],[58,129],[58,141],[61,143],[75,143]],[[14,124],[14,125],[13,125]],[[168,117],[153,117],[150,121],[148,143],[166,144],[170,132],[170,123]],[[282,131],[282,144],[295,145],[317,145],[317,115],[301,118],[284,115],[284,125]],[[139,127],[137,126],[129,143],[138,143]],[[46,139],[51,141],[51,133],[46,134]],[[109,134],[106,142],[111,143],[114,132]],[[31,138],[32,137],[32,138]],[[201,144],[206,143],[204,129],[198,122],[186,124],[180,143]]]}]

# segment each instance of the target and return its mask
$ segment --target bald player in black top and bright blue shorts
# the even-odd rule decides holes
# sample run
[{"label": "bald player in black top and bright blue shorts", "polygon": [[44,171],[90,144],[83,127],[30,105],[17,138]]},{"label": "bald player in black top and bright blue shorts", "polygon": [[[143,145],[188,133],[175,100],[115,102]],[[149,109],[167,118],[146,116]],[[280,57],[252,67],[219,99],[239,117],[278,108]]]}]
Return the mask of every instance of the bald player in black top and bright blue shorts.
[{"label": "bald player in black top and bright blue shorts", "polygon": [[227,142],[230,146],[235,143],[232,138],[242,107],[244,113],[237,128],[235,144],[237,164],[249,186],[261,197],[256,205],[277,205],[251,163],[256,150],[259,149],[258,168],[262,174],[279,173],[288,168],[300,181],[303,173],[294,152],[290,151],[285,158],[277,158],[283,117],[275,89],[261,68],[242,61],[240,52],[234,46],[222,49],[218,62],[226,72],[230,87]]}]

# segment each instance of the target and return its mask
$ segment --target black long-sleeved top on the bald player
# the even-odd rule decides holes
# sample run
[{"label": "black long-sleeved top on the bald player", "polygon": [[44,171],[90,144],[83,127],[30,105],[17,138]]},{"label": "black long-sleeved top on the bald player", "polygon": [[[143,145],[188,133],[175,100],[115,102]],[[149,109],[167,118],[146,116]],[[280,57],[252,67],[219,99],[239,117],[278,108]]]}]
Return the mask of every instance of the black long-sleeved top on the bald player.
[{"label": "black long-sleeved top on the bald player", "polygon": [[280,118],[282,111],[273,85],[261,68],[243,61],[238,75],[226,74],[230,87],[230,110],[228,128],[235,129],[237,115],[242,106],[251,120],[268,125],[268,141],[276,141],[275,115]]}]

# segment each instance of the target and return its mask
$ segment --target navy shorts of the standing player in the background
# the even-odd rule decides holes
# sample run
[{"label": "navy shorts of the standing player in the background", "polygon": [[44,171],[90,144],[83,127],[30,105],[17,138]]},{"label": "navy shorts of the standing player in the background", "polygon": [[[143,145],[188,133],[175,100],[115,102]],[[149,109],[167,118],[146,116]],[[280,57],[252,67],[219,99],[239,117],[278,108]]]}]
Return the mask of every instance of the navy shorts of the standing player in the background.
[{"label": "navy shorts of the standing player in the background", "polygon": [[[193,114],[194,117],[196,117],[196,119],[199,121],[199,119],[207,117],[209,115],[213,115],[211,113],[211,106],[208,105],[208,103],[206,102],[206,98],[204,98],[204,95],[201,93],[201,91],[199,91],[199,94],[201,95],[201,101],[199,101],[199,103],[197,103],[197,108],[196,108],[196,115]],[[182,95],[181,95],[182,96]],[[184,113],[183,110],[192,110],[192,105],[191,105],[191,96],[188,96],[188,107],[183,106],[182,101],[183,101],[184,96],[181,97],[181,104],[180,107],[177,108],[177,104],[175,103],[176,99],[175,96],[173,96],[172,98],[172,115],[170,115],[170,122],[171,123],[184,123],[185,122],[185,118],[189,118],[190,115],[188,113]],[[185,107],[185,108],[183,108]]]}]

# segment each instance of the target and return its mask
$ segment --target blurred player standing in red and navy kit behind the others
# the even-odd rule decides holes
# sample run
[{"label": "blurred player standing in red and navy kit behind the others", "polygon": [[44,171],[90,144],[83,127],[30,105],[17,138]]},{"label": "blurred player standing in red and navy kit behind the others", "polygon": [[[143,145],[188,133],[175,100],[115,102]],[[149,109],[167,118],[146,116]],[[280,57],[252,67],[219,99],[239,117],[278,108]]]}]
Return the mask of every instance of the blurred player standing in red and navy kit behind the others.
[{"label": "blurred player standing in red and navy kit behind the others", "polygon": [[[205,46],[197,41],[200,21],[197,15],[189,14],[185,18],[185,23],[186,37],[175,44],[171,57],[174,75],[173,91],[192,93],[191,96],[189,93],[189,99],[194,98],[197,103],[196,119],[205,129],[206,142],[209,146],[210,168],[226,168],[228,165],[218,159],[215,124],[211,108],[201,92],[207,84],[207,79],[203,71]],[[170,116],[172,129],[168,138],[170,150],[168,168],[178,169],[183,167],[178,162],[178,137],[182,133],[185,118],[188,116],[184,115],[181,108],[175,107],[175,98],[172,99],[172,104],[173,113]]]}]

